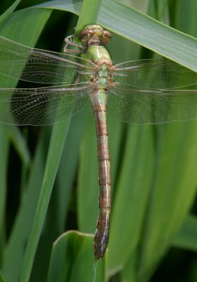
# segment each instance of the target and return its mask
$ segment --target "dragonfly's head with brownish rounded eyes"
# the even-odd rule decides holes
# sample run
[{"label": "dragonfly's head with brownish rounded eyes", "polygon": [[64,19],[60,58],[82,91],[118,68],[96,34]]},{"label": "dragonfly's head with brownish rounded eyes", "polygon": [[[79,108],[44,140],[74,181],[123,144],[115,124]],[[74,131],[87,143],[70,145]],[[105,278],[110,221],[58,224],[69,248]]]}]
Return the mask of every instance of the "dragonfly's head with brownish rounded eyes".
[{"label": "dragonfly's head with brownish rounded eyes", "polygon": [[111,33],[104,30],[101,25],[87,25],[78,35],[80,42],[87,45],[87,47],[108,44],[111,37]]}]

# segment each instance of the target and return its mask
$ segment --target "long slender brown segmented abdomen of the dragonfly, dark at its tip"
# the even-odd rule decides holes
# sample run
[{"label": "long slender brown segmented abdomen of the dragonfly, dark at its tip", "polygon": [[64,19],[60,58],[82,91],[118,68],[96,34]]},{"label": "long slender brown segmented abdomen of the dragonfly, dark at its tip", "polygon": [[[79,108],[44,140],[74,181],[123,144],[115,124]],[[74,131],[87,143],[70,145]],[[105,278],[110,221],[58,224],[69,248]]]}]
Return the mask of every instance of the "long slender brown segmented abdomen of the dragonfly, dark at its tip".
[{"label": "long slender brown segmented abdomen of the dragonfly, dark at its tip", "polygon": [[96,122],[98,143],[98,183],[99,215],[94,236],[94,256],[103,257],[108,245],[110,232],[110,154],[108,148],[108,130],[106,124],[106,91],[98,90],[91,94],[91,106]]}]

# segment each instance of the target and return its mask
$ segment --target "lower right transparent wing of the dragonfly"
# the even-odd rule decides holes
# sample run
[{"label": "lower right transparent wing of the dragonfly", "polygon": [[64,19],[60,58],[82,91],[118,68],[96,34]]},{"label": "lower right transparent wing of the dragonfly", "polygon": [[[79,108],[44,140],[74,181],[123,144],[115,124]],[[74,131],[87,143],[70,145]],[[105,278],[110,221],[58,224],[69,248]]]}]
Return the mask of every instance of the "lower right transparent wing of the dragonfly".
[{"label": "lower right transparent wing of the dragonfly", "polygon": [[188,121],[197,118],[197,90],[115,87],[108,94],[108,111],[134,124]]}]

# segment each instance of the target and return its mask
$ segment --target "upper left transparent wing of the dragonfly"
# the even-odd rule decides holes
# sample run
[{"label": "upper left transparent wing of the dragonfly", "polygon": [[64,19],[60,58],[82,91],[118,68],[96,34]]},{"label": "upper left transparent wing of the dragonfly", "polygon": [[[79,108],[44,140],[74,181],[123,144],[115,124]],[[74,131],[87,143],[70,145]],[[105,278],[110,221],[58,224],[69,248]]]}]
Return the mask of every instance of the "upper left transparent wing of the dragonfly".
[{"label": "upper left transparent wing of the dragonfly", "polygon": [[73,82],[75,69],[85,73],[94,68],[86,59],[33,49],[0,36],[0,73],[8,77],[44,84]]}]

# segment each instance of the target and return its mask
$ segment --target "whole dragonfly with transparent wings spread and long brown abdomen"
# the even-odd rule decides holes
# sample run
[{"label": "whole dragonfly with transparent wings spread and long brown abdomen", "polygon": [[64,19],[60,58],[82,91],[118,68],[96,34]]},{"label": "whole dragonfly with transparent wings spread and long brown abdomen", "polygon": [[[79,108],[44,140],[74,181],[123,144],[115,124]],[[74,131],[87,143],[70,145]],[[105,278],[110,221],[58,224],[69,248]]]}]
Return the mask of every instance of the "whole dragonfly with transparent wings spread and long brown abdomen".
[{"label": "whole dragonfly with transparent wings spread and long brown abdomen", "polygon": [[100,191],[94,235],[96,259],[105,255],[110,233],[106,111],[134,124],[197,118],[197,90],[191,89],[197,83],[195,72],[164,58],[114,65],[105,47],[111,36],[101,25],[87,25],[78,35],[65,39],[64,53],[34,49],[0,37],[0,75],[32,83],[28,88],[0,88],[1,123],[53,124],[74,116],[90,101],[96,123]]}]

